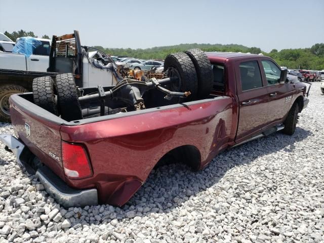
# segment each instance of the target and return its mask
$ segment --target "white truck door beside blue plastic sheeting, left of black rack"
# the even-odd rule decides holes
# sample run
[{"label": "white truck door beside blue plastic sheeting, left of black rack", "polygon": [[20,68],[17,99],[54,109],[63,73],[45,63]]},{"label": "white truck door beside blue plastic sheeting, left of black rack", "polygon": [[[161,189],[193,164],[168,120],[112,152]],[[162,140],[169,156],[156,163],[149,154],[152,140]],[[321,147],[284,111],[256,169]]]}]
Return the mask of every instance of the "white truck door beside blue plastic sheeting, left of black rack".
[{"label": "white truck door beside blue plastic sheeting, left of black rack", "polygon": [[27,70],[46,72],[49,67],[50,42],[41,41],[42,45],[33,49],[32,55],[27,57]]}]

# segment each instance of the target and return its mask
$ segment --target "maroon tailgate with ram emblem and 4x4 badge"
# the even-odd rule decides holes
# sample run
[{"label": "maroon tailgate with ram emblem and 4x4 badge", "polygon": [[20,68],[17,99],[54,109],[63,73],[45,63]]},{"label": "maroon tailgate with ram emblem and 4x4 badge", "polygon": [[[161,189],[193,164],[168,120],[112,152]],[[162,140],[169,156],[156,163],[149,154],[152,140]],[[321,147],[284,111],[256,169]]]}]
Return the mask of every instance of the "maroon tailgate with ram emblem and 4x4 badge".
[{"label": "maroon tailgate with ram emblem and 4x4 badge", "polygon": [[59,117],[18,95],[10,98],[10,113],[16,136],[65,181],[61,161],[60,124],[46,118],[53,116],[57,120]]}]

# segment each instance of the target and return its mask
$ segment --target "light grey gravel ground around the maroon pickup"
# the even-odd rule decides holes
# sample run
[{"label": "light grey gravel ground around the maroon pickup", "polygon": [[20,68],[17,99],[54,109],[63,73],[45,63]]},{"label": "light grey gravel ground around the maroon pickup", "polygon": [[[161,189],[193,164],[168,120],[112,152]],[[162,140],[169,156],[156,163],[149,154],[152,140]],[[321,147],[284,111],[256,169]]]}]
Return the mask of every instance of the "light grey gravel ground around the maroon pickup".
[{"label": "light grey gravel ground around the maroon pickup", "polygon": [[324,242],[319,83],[310,94],[293,136],[227,150],[196,173],[160,167],[123,208],[61,208],[0,144],[0,242]]}]

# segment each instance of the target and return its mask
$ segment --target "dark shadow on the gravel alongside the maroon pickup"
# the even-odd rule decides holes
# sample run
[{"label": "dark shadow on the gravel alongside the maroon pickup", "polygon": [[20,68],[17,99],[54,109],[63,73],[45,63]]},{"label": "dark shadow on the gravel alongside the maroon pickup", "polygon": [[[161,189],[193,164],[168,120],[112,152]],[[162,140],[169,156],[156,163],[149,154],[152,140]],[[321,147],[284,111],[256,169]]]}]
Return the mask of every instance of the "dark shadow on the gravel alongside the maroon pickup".
[{"label": "dark shadow on the gravel alongside the maroon pickup", "polygon": [[[250,164],[253,160],[279,150],[294,152],[295,143],[313,133],[297,127],[293,136],[274,133],[218,154],[202,171],[192,172],[183,164],[157,168],[122,210],[135,210],[143,215],[168,213],[200,192],[216,185],[231,168]],[[217,196],[217,195],[215,195]],[[147,211],[147,212],[145,212]]]}]

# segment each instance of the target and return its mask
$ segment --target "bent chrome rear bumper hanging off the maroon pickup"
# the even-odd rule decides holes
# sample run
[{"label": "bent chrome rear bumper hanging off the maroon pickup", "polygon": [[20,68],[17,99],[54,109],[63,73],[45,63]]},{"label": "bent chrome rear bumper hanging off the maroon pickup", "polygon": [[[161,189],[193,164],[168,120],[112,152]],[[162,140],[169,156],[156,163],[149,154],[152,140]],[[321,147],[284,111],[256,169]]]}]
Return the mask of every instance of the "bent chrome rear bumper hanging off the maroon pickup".
[{"label": "bent chrome rear bumper hanging off the maroon pickup", "polygon": [[46,166],[37,169],[36,172],[33,171],[25,163],[29,159],[28,154],[30,156],[30,153],[26,151],[28,149],[14,136],[1,134],[0,142],[6,145],[6,150],[11,150],[16,155],[17,161],[21,166],[25,167],[29,173],[35,174],[39,181],[43,183],[45,190],[63,207],[85,207],[98,204],[97,189],[73,189]]}]

